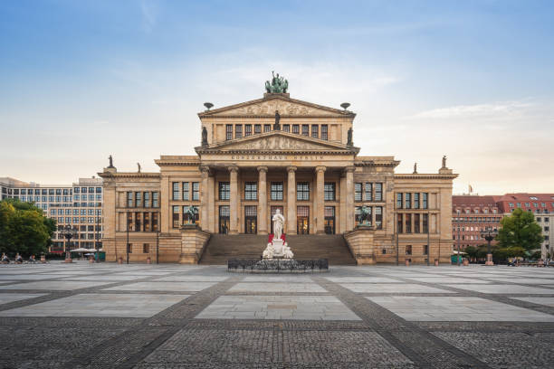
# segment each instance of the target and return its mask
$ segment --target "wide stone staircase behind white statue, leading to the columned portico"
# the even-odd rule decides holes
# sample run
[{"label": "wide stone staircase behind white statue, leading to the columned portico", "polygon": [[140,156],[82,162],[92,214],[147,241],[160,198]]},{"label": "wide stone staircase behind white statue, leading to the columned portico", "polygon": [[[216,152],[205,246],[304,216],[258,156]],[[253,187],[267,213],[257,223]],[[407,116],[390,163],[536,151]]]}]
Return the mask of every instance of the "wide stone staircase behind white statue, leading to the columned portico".
[{"label": "wide stone staircase behind white statue, leading to the columned portico", "polygon": [[[356,265],[349,247],[340,234],[288,235],[294,259],[327,259],[330,265]],[[214,234],[208,241],[200,264],[226,264],[229,259],[260,259],[266,235]]]}]

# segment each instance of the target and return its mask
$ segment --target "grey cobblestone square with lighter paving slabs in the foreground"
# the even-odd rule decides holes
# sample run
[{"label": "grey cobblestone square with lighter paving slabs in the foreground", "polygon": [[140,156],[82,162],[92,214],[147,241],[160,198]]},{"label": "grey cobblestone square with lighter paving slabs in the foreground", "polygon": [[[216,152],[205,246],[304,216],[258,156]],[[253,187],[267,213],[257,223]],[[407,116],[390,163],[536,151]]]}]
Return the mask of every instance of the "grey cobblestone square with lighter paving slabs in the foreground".
[{"label": "grey cobblestone square with lighter paving slabs in the foreground", "polygon": [[554,269],[0,265],[0,368],[554,368]]}]

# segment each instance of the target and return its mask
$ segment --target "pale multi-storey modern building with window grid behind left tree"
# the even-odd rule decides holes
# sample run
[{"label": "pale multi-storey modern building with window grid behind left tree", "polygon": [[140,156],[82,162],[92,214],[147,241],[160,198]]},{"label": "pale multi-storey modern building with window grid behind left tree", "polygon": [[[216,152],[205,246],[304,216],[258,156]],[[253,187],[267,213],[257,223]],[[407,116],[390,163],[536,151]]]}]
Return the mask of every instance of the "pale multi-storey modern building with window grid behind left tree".
[{"label": "pale multi-storey modern building with window grid behind left tree", "polygon": [[68,225],[74,233],[70,247],[101,248],[103,231],[101,178],[79,178],[72,185],[39,185],[14,178],[0,178],[2,199],[17,198],[35,203],[45,215],[57,222],[51,251],[64,250],[63,229]]}]

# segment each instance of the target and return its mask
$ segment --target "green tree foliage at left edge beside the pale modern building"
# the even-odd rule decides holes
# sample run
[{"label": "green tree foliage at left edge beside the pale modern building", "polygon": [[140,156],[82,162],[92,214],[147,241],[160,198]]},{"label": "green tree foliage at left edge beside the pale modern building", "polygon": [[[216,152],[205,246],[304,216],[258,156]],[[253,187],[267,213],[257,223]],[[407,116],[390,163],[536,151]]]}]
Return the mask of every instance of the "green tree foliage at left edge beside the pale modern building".
[{"label": "green tree foliage at left edge beside the pale modern building", "polygon": [[23,255],[48,251],[56,223],[33,203],[17,199],[0,202],[0,252]]}]

